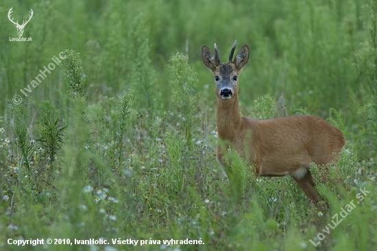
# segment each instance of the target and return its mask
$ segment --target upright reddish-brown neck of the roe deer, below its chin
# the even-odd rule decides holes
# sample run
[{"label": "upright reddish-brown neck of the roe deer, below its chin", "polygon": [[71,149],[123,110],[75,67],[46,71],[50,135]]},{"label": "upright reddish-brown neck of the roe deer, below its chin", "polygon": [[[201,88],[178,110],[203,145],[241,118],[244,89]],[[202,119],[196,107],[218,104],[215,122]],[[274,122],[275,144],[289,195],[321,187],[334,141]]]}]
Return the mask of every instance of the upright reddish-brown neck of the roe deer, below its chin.
[{"label": "upright reddish-brown neck of the roe deer, below its chin", "polygon": [[238,93],[235,93],[231,99],[217,97],[216,121],[219,138],[232,141],[241,129]]}]

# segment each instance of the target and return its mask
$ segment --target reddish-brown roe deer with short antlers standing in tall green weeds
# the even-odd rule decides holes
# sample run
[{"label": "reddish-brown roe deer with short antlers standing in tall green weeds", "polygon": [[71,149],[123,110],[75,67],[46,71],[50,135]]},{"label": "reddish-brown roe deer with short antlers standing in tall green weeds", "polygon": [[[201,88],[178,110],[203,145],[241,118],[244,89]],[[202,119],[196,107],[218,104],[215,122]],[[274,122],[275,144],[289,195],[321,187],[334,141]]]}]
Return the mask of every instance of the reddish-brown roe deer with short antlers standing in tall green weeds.
[{"label": "reddish-brown roe deer with short antlers standing in tall green weeds", "polygon": [[[319,117],[310,115],[258,120],[241,117],[239,112],[239,75],[249,60],[249,47],[243,45],[229,62],[221,63],[215,54],[202,47],[204,65],[215,77],[217,97],[217,160],[228,178],[232,174],[223,160],[228,147],[239,152],[249,165],[256,166],[256,176],[290,175],[316,204],[320,201],[309,171],[310,163],[337,164],[345,139],[340,130]],[[250,137],[251,136],[251,137]]]}]

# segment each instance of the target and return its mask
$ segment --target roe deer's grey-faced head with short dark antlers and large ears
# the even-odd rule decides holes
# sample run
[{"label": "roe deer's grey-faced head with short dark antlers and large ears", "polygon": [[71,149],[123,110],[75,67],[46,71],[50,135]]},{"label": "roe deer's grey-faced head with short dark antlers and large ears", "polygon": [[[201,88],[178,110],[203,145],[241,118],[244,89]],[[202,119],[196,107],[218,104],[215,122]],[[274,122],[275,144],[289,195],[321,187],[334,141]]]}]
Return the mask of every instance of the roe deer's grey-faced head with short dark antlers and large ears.
[{"label": "roe deer's grey-faced head with short dark antlers and large ears", "polygon": [[215,54],[206,45],[202,47],[202,60],[215,77],[216,95],[221,99],[231,99],[238,93],[239,75],[249,61],[249,47],[247,45],[243,45],[239,52],[236,53],[234,60],[232,60],[236,45],[237,40],[234,41],[230,51],[228,63],[221,63],[216,44],[214,45]]}]

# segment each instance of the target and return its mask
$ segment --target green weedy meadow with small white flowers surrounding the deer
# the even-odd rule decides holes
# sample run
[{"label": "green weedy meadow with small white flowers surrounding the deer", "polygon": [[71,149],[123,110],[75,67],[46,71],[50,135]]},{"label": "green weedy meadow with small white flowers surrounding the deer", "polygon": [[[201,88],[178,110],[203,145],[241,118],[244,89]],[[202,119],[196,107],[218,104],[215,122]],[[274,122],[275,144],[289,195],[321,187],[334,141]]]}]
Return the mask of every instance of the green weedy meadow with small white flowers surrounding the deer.
[{"label": "green weedy meadow with small white flowers surrounding the deer", "polygon": [[[3,0],[0,20],[0,250],[376,250],[377,0]],[[327,207],[217,163],[201,50],[234,40],[243,116],[343,132]]]}]

